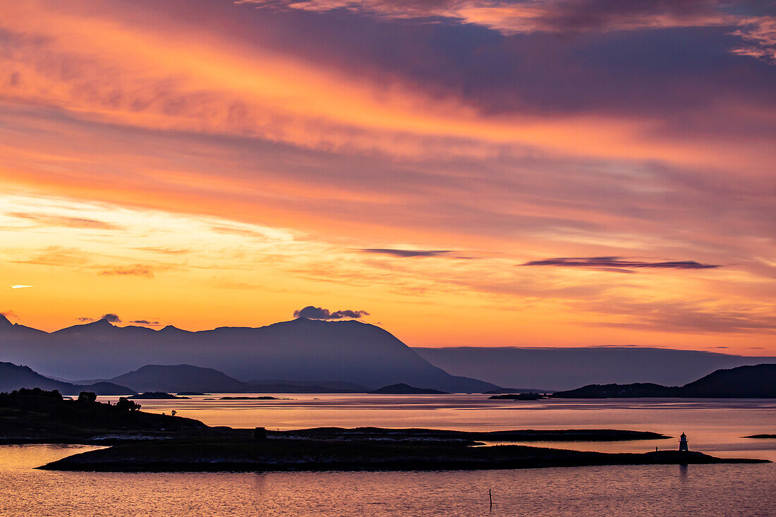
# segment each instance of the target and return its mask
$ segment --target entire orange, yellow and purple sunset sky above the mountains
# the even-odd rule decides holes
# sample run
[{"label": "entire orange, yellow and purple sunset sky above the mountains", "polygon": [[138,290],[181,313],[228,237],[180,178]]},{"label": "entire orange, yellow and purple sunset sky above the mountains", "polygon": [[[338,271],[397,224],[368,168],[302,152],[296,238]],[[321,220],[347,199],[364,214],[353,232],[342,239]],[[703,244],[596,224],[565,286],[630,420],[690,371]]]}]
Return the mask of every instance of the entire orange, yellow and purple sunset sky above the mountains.
[{"label": "entire orange, yellow and purple sunset sky above the mountains", "polygon": [[772,2],[0,12],[11,321],[776,353]]}]

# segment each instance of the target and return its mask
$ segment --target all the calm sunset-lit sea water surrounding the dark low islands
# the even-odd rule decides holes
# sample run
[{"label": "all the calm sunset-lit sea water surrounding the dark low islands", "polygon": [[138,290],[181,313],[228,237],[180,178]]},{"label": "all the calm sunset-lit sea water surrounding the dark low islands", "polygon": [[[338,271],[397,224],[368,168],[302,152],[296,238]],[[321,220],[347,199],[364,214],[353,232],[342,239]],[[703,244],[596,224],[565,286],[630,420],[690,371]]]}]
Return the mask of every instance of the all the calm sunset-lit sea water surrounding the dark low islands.
[{"label": "all the calm sunset-lit sea water surrounding the dark low islands", "polygon": [[[690,437],[717,456],[776,460],[774,401],[495,402],[471,396],[276,395],[287,401],[144,401],[210,425],[296,429],[608,428]],[[559,446],[559,444],[552,444]],[[564,443],[645,451],[650,442]],[[97,474],[34,470],[88,446],[0,446],[0,515],[776,515],[776,463],[474,472]],[[494,506],[488,504],[488,490]]]}]

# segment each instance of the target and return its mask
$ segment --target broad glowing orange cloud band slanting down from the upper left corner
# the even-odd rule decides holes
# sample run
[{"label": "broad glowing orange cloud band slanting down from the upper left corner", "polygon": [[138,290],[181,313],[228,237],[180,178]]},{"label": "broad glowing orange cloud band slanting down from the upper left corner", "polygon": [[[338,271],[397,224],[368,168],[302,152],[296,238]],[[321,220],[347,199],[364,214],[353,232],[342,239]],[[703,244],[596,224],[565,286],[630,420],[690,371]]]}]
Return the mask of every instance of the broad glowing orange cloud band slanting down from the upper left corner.
[{"label": "broad glowing orange cloud band slanting down from the upper left corner", "polygon": [[33,5],[4,9],[0,23],[15,50],[5,59],[8,79],[0,92],[16,102],[61,106],[79,119],[405,156],[433,152],[437,146],[426,140],[439,138],[447,152],[479,147],[474,152],[480,155],[497,154],[504,145],[692,164],[723,155],[646,137],[650,120],[487,117],[459,99],[431,99],[398,82],[370,83],[267,50],[248,53],[203,30],[161,30],[102,12],[85,17]]}]

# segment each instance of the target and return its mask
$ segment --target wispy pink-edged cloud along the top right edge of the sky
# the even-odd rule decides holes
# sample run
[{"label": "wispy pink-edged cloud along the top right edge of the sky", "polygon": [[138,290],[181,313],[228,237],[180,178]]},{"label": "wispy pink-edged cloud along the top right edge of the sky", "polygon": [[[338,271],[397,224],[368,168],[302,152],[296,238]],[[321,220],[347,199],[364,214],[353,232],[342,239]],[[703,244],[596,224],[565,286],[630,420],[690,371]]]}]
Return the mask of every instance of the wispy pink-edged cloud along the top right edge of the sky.
[{"label": "wispy pink-edged cloud along the top right edge of the sky", "polygon": [[[384,19],[433,19],[514,33],[609,33],[740,27],[731,54],[776,64],[776,17],[737,14],[744,0],[238,0],[265,9],[343,10]],[[733,9],[731,9],[733,8]],[[747,12],[744,8],[743,12]]]}]

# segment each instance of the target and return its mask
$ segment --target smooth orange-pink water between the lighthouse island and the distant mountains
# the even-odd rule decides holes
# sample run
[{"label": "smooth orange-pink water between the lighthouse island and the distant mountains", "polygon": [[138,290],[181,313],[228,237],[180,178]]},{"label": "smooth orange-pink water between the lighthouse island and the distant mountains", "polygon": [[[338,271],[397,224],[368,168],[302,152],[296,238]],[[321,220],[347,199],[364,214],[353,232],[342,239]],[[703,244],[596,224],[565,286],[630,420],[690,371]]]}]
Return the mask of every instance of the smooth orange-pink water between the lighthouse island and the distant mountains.
[{"label": "smooth orange-pink water between the lighthouse island and the distant mountains", "polygon": [[[691,449],[726,457],[776,460],[776,440],[744,439],[776,429],[776,401],[734,399],[608,399],[490,401],[487,395],[275,394],[290,400],[141,401],[144,411],[196,418],[236,428],[397,427],[496,431],[505,429],[630,429],[671,439],[632,442],[531,442],[528,445],[601,452],[674,449],[688,434]],[[108,400],[112,397],[100,397]],[[113,397],[115,398],[115,397]],[[756,455],[753,455],[757,453]]]}]

